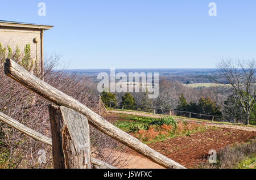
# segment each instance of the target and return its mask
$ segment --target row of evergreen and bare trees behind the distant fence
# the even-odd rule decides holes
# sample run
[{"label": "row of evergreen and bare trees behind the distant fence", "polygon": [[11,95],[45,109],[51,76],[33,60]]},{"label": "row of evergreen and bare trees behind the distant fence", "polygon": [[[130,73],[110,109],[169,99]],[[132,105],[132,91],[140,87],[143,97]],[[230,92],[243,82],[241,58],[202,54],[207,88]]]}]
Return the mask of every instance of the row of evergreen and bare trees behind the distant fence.
[{"label": "row of evergreen and bare trees behind the distant fence", "polygon": [[[102,101],[112,106],[122,104],[125,109],[140,108],[145,112],[156,110],[166,114],[170,109],[185,112],[222,116],[227,121],[256,119],[255,60],[222,59],[216,75],[228,84],[220,87],[192,88],[162,77],[159,80],[159,97],[148,99],[147,93],[102,93]],[[198,115],[195,115],[198,117]],[[252,122],[252,123],[255,123]]]}]

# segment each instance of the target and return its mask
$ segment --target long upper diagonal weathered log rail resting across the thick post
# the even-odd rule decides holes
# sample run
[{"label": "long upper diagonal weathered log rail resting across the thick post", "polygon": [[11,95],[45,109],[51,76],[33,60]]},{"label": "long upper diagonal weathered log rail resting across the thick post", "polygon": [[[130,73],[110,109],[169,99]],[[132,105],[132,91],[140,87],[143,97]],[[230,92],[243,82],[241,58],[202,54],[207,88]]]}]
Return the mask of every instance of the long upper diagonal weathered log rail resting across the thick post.
[{"label": "long upper diagonal weathered log rail resting across the thick post", "polygon": [[81,102],[57,90],[56,88],[53,88],[51,85],[43,82],[43,80],[30,74],[30,72],[26,71],[11,59],[6,59],[5,74],[20,84],[23,84],[28,89],[31,89],[31,91],[34,91],[35,93],[38,93],[38,95],[47,98],[47,100],[55,103],[56,105],[65,106],[86,115],[90,125],[104,132],[106,135],[118,140],[122,144],[127,145],[131,149],[134,149],[134,151],[141,153],[141,155],[156,162],[156,164],[162,165],[165,168],[184,168],[184,166],[180,165],[179,163],[161,155],[154,149],[148,147],[146,144],[140,142],[138,139],[113,126],[100,115],[94,113],[85,105],[81,104]]}]

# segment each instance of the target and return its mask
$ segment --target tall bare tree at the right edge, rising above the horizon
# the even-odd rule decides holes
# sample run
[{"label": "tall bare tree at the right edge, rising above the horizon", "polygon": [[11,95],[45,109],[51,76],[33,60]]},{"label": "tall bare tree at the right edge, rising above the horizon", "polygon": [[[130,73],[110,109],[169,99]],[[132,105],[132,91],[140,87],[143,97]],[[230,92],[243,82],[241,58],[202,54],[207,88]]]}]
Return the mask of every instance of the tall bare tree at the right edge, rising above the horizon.
[{"label": "tall bare tree at the right edge, rising above the horizon", "polygon": [[217,74],[226,79],[237,95],[249,125],[251,110],[255,104],[255,59],[221,59],[217,65]]}]

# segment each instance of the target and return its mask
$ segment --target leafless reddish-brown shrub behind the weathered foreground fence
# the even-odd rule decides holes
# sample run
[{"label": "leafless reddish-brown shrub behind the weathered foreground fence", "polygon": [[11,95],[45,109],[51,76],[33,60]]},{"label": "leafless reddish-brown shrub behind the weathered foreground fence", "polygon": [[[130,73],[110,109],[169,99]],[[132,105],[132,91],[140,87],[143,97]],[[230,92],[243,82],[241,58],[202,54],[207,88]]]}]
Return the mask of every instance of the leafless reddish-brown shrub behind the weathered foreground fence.
[{"label": "leafless reddish-brown shrub behind the weathered foreground fence", "polygon": [[[84,76],[55,71],[59,56],[52,55],[46,61],[44,81],[67,93],[97,112],[98,92],[93,81]],[[0,55],[0,111],[23,125],[51,137],[48,104],[50,102],[19,83],[5,76]],[[19,61],[19,59],[16,59]],[[114,166],[123,166],[122,145],[90,127],[92,155]],[[39,163],[40,150],[46,152],[46,163]],[[107,151],[106,151],[107,150]],[[118,153],[117,153],[118,152]],[[0,122],[0,168],[52,168],[52,148],[20,133]]]}]

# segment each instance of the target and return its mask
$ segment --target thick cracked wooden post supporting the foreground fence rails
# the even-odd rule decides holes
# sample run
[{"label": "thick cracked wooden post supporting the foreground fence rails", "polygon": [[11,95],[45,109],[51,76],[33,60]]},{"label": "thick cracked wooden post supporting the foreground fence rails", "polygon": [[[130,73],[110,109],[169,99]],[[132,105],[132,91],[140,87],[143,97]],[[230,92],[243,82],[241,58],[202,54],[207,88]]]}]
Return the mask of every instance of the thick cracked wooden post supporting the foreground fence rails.
[{"label": "thick cracked wooden post supporting the foreground fence rails", "polygon": [[90,169],[89,124],[85,115],[49,105],[55,169]]}]

